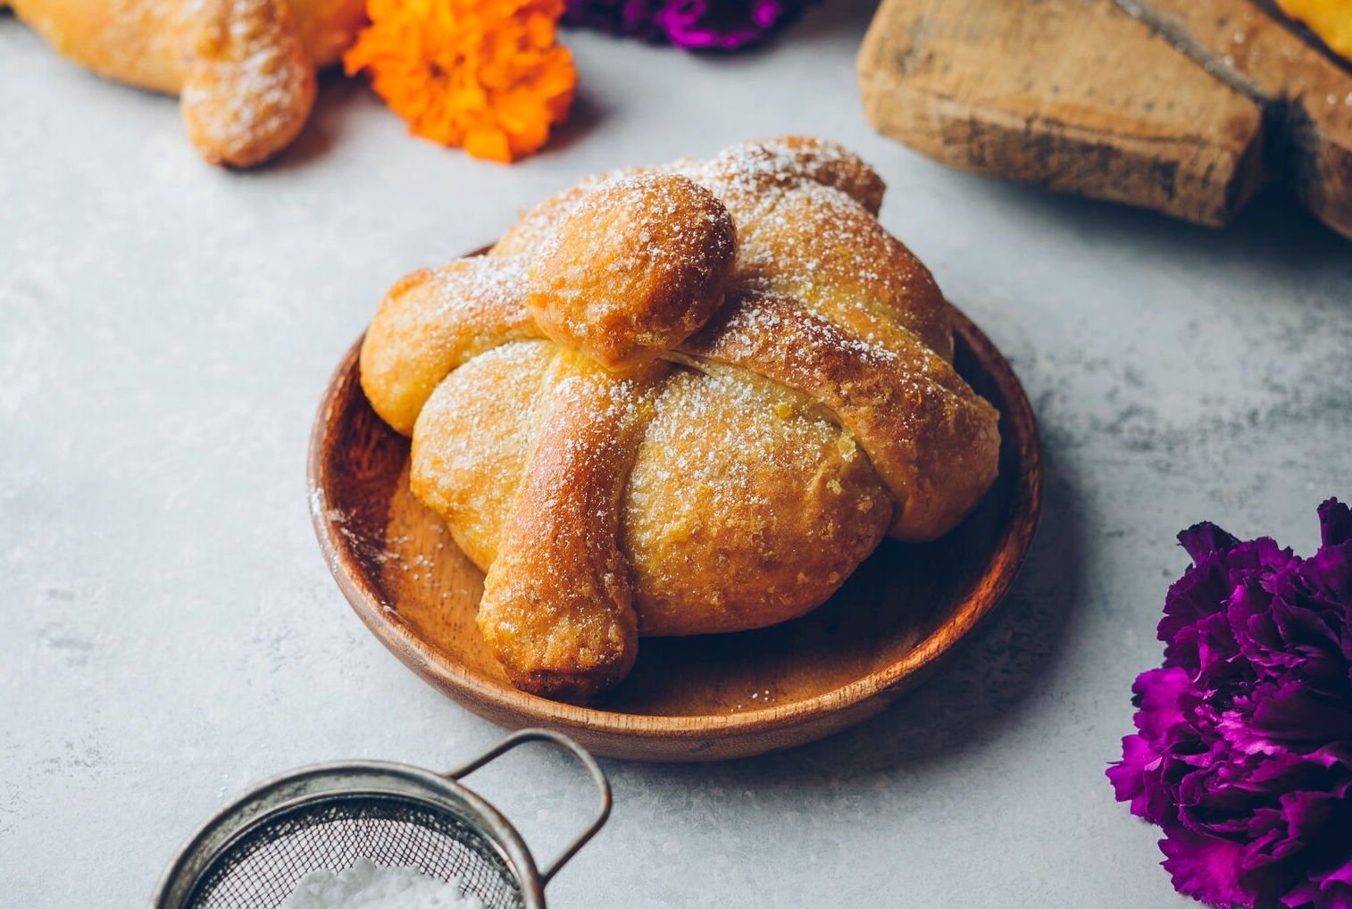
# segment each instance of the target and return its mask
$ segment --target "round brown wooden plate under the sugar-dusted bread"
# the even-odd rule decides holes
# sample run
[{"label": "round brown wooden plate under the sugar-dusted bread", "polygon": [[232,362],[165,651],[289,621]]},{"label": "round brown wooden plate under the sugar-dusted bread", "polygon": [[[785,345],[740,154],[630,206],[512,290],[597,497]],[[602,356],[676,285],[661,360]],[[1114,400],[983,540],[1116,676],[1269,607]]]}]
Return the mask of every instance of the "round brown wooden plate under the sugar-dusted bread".
[{"label": "round brown wooden plate under the sugar-dusted bread", "polygon": [[803,618],[738,634],[644,638],[630,676],[589,707],[508,684],[475,625],[483,574],[408,490],[408,440],[366,403],[358,344],[310,441],[319,545],[361,620],[443,694],[493,722],[560,729],[634,760],[718,760],[798,745],[873,716],[1009,590],[1033,540],[1033,411],[990,340],[955,314],[957,368],[1000,411],[1000,475],[953,533],[891,540]]}]

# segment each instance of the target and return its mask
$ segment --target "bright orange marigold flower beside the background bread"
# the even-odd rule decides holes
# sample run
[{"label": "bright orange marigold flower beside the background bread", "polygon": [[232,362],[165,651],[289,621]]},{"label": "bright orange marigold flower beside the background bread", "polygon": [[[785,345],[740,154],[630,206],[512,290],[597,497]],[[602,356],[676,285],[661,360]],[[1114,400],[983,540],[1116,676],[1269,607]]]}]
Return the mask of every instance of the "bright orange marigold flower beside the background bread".
[{"label": "bright orange marigold flower beside the background bread", "polygon": [[564,0],[366,0],[366,12],[347,74],[366,70],[415,135],[514,161],[568,115],[577,70],[556,39]]}]

